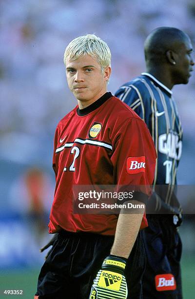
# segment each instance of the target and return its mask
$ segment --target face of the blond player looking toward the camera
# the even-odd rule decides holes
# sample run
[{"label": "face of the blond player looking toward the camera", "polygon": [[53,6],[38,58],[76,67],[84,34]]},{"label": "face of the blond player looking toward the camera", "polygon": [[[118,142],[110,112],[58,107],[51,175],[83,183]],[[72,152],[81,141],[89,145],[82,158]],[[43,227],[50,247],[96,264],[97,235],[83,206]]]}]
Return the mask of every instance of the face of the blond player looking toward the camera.
[{"label": "face of the blond player looking toward the camera", "polygon": [[77,60],[66,60],[66,77],[70,90],[84,108],[98,100],[107,91],[110,67],[103,72],[97,60],[86,54]]}]

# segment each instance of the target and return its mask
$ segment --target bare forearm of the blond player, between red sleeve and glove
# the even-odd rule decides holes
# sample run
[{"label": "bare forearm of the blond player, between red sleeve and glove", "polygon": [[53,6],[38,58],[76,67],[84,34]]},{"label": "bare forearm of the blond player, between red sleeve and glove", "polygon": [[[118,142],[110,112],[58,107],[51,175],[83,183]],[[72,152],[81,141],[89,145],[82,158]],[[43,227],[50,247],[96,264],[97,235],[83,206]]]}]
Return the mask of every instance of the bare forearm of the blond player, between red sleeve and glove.
[{"label": "bare forearm of the blond player, between red sleeve and glove", "polygon": [[[131,203],[140,204],[137,200],[131,201]],[[111,255],[129,257],[137,238],[144,209],[137,209],[136,212],[137,214],[123,214],[128,211],[121,209]]]}]

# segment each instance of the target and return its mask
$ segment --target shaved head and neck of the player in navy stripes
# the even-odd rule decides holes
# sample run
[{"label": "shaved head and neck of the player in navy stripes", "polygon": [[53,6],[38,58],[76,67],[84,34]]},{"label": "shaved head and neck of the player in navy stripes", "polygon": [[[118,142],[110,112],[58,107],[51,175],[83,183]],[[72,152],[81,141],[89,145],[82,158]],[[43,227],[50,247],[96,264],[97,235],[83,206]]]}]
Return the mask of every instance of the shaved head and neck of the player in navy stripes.
[{"label": "shaved head and neck of the player in navy stripes", "polygon": [[189,36],[174,27],[158,27],[144,43],[146,71],[168,88],[187,84],[193,71],[193,46]]}]

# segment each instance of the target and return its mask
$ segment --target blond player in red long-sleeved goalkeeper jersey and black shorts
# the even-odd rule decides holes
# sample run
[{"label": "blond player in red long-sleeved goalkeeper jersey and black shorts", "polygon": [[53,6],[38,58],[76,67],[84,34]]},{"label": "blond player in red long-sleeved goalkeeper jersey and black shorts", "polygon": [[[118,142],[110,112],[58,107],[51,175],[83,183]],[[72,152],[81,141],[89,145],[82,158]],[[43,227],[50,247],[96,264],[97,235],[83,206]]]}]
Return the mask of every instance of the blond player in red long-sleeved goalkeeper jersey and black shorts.
[{"label": "blond player in red long-sleeved goalkeeper jersey and black shorts", "polygon": [[67,82],[78,106],[55,133],[49,233],[58,237],[41,268],[36,299],[142,298],[144,208],[134,214],[125,207],[119,214],[74,210],[74,186],[116,185],[117,192],[134,186],[132,201],[123,200],[134,205],[152,193],[154,142],[143,120],[107,92],[110,61],[108,45],[95,35],[78,37],[65,50]]}]

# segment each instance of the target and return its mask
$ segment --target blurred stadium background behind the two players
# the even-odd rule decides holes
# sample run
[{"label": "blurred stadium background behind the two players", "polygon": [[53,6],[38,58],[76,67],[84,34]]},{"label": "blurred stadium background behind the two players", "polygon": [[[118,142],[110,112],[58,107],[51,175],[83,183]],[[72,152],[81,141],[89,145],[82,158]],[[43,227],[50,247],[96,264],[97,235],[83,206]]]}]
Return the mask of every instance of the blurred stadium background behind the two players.
[{"label": "blurred stadium background behind the two players", "polygon": [[[5,289],[33,298],[45,256],[39,248],[50,239],[53,136],[58,121],[77,104],[66,84],[66,45],[86,33],[105,40],[112,51],[114,93],[145,70],[143,42],[159,26],[184,30],[195,46],[195,0],[0,1],[0,298],[6,298]],[[184,129],[178,183],[193,186],[195,74],[173,91]],[[193,211],[193,192],[181,201]],[[180,233],[184,299],[194,299],[193,214],[185,215]]]}]

